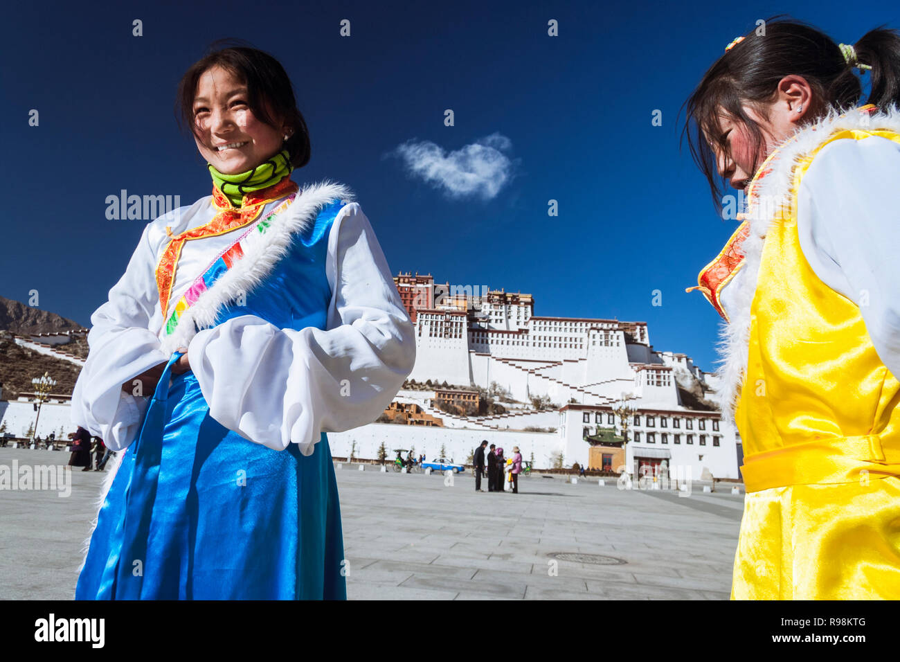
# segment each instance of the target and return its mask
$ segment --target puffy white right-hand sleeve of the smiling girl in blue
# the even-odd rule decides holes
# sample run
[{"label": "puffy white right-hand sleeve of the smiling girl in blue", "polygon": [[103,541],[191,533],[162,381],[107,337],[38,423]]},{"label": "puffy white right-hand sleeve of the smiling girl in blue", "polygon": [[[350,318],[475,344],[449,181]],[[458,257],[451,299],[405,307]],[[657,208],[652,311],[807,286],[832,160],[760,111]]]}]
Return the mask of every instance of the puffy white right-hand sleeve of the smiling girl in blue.
[{"label": "puffy white right-hand sleeve of the smiling girl in blue", "polygon": [[198,331],[188,360],[210,415],[271,449],[373,422],[416,360],[410,316],[365,214],[338,212],[329,234],[327,330],[279,329],[255,315]]}]

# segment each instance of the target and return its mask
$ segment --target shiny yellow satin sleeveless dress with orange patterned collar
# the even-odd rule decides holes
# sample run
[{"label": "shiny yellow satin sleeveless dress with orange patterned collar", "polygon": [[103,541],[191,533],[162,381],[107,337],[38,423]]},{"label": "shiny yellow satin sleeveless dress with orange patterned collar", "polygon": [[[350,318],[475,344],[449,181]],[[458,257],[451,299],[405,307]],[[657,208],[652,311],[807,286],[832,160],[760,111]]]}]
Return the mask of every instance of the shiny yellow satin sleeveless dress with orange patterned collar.
[{"label": "shiny yellow satin sleeveless dress with orange patterned collar", "polygon": [[[873,135],[900,143],[894,131],[843,130],[800,155],[792,204],[763,240],[734,413],[747,494],[732,599],[900,599],[900,383],[860,308],[815,275],[797,233],[797,191],[818,151]],[[701,279],[720,312],[746,232],[707,266],[718,286]]]}]

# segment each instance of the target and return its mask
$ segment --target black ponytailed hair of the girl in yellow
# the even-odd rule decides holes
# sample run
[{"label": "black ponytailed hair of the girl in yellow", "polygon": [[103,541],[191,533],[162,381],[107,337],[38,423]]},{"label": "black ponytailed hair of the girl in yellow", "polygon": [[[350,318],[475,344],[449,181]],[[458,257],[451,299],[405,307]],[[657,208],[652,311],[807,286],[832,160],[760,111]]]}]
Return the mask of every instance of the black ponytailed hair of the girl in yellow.
[{"label": "black ponytailed hair of the girl in yellow", "polygon": [[[854,44],[859,64],[871,69],[871,92],[867,103],[879,109],[900,104],[900,35],[884,26],[867,32]],[[716,60],[685,102],[687,106],[682,141],[688,138],[691,156],[707,177],[716,202],[725,182],[718,176],[715,152],[707,143],[721,141],[719,116],[724,111],[743,123],[750,134],[753,153],[759,154],[763,136],[759,125],[743,110],[751,106],[768,119],[765,104],[778,93],[779,81],[795,74],[806,78],[813,89],[811,121],[830,111],[842,112],[859,104],[860,78],[854,62],[844,59],[841,48],[824,32],[789,18],[773,17]],[[725,149],[725,141],[720,143]],[[759,163],[754,163],[750,175]]]}]

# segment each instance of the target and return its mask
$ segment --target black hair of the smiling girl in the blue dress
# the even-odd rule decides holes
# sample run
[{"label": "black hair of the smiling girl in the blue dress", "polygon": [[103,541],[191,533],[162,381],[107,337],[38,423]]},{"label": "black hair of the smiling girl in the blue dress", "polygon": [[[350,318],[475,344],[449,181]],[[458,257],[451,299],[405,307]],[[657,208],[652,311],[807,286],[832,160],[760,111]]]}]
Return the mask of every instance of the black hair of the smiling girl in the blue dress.
[{"label": "black hair of the smiling girl in the blue dress", "polygon": [[197,134],[193,121],[193,97],[196,95],[197,83],[207,69],[224,68],[247,86],[247,105],[259,120],[282,131],[282,126],[275,126],[275,117],[282,117],[284,124],[293,129],[290,138],[284,141],[284,147],[291,155],[293,167],[302,168],[310,162],[310,131],[297,107],[291,78],[284,71],[281,62],[265,51],[245,45],[219,48],[228,43],[242,42],[213,42],[207,54],[194,62],[181,77],[175,95],[175,117],[179,125],[183,129],[184,125],[190,126],[191,132]]}]

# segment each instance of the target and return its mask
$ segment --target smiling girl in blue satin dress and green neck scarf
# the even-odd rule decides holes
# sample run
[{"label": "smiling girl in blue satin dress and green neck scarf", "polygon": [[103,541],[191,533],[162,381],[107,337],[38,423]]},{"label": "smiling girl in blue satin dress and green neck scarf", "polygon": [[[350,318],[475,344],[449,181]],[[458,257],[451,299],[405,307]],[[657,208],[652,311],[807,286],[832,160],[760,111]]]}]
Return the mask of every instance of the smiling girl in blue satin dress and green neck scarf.
[{"label": "smiling girl in blue satin dress and green neck scarf", "polygon": [[212,195],[148,223],[94,313],[73,421],[118,453],[76,599],[344,599],[326,432],[373,422],[416,349],[345,186],[290,179],[310,141],[248,48],[184,74]]}]

